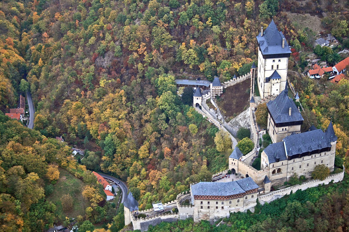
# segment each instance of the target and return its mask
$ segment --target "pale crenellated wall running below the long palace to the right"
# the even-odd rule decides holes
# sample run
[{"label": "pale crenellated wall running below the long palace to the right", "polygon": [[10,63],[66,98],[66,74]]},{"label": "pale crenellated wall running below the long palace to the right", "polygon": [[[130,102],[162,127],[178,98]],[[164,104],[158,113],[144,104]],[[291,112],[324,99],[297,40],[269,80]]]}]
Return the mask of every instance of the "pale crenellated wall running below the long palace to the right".
[{"label": "pale crenellated wall running below the long palace to the right", "polygon": [[258,196],[258,200],[263,205],[266,202],[269,203],[269,202],[272,202],[276,199],[282,198],[284,195],[290,194],[291,191],[296,192],[299,189],[306,190],[308,188],[316,187],[316,186],[319,186],[321,184],[328,184],[331,181],[336,183],[336,182],[342,181],[343,177],[344,177],[344,171],[342,171],[341,173],[329,175],[323,181],[320,181],[319,179],[315,179],[315,180],[307,181],[307,182],[304,182],[302,184],[294,185],[294,186],[291,186],[291,187],[288,187],[285,189],[280,189],[280,190],[276,190],[276,191],[273,191],[270,193],[261,194]]}]

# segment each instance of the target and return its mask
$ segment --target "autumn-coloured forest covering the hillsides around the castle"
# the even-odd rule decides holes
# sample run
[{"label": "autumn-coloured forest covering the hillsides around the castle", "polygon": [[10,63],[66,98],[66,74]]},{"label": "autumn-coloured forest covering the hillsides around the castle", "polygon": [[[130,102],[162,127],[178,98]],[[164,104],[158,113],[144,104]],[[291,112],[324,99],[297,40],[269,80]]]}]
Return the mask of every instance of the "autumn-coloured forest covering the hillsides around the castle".
[{"label": "autumn-coloured forest covering the hillsides around the castle", "polygon": [[[140,209],[174,200],[190,183],[211,179],[227,167],[229,137],[194,110],[192,89],[177,89],[174,80],[219,75],[223,82],[245,74],[253,61],[257,64],[255,36],[272,17],[292,47],[289,69],[300,73],[306,57],[299,51],[313,51],[315,33],[299,29],[285,11],[327,11],[323,26],[340,40],[340,48],[349,47],[348,18],[336,12],[336,4],[347,7],[294,0],[1,1],[0,109],[16,107],[27,90],[36,109],[34,130],[0,118],[1,230],[69,225],[69,209],[65,217],[56,210],[62,205],[50,201],[60,168],[83,181],[89,206],[76,218],[86,228],[79,231],[102,225],[95,231],[114,232],[124,226],[122,210],[115,216],[115,205],[105,201],[92,170],[125,181]],[[316,52],[335,63],[341,59],[335,51]],[[306,125],[326,128],[332,119],[337,153],[347,161],[348,81],[330,85],[297,75],[290,80]],[[85,150],[85,158],[72,158],[71,146]],[[74,198],[65,196],[62,202]],[[339,202],[344,208],[346,202]],[[313,214],[317,207],[306,210]],[[262,226],[266,218],[261,218],[256,225]]]}]

